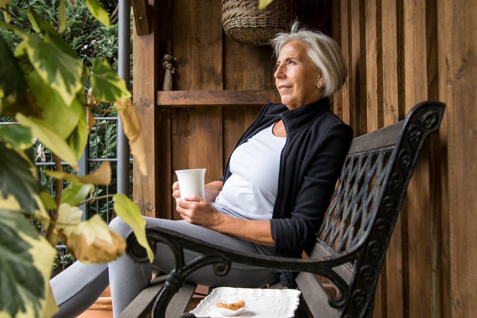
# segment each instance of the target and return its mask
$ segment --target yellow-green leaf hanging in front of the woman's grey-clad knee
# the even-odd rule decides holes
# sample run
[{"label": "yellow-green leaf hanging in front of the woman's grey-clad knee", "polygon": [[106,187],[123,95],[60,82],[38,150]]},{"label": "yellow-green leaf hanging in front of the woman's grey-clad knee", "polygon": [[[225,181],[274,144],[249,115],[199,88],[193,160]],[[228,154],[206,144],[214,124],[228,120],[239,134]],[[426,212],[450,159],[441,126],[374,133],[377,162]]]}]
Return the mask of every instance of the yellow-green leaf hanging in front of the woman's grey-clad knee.
[{"label": "yellow-green leaf hanging in front of the woman's grey-clad knee", "polygon": [[113,201],[114,212],[133,229],[137,243],[146,249],[149,261],[152,263],[154,253],[147,242],[145,230],[146,220],[142,217],[139,207],[127,196],[119,193],[113,196]]}]

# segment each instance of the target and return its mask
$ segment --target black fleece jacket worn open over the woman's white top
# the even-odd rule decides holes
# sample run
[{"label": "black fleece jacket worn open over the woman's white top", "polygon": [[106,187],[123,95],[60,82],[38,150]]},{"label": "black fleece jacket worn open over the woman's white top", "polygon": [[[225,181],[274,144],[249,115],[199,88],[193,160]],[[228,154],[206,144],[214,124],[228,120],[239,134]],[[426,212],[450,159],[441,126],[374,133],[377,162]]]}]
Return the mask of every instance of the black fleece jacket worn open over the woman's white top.
[{"label": "black fleece jacket worn open over the woman's white top", "polygon": [[[293,110],[267,103],[235,148],[280,119],[287,141],[280,157],[271,236],[278,256],[300,257],[313,244],[321,226],[353,130],[330,111],[328,98]],[[218,179],[224,183],[231,175],[229,162],[230,158],[224,176]]]}]

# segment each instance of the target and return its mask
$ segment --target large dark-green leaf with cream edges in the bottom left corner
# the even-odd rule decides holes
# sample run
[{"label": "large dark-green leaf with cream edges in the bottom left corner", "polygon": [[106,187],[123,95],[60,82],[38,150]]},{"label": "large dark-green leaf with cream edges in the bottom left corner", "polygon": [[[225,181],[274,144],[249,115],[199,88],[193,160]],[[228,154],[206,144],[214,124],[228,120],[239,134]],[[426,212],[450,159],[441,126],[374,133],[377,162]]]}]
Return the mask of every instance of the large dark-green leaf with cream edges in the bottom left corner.
[{"label": "large dark-green leaf with cream edges in the bottom left corner", "polygon": [[0,208],[0,316],[48,316],[55,254],[23,215]]}]

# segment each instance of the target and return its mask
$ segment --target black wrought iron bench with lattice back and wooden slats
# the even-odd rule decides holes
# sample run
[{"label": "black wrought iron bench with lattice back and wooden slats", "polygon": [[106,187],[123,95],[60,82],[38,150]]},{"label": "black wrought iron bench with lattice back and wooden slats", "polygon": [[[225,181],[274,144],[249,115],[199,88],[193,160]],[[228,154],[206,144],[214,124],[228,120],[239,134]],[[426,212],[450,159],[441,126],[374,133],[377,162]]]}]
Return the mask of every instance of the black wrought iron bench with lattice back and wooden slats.
[{"label": "black wrought iron bench with lattice back and wooden slats", "polygon": [[[195,317],[183,314],[196,287],[186,282],[187,276],[210,264],[217,275],[226,275],[231,262],[300,272],[296,284],[313,317],[371,317],[378,275],[417,155],[427,136],[438,130],[444,108],[439,102],[420,103],[403,121],[353,139],[308,259],[239,253],[148,227],[150,245],[171,246],[176,268],[156,277],[120,317],[144,317],[151,307],[154,317]],[[183,249],[203,256],[184,264]],[[127,238],[127,253],[147,262],[134,235]],[[315,275],[326,277],[336,292],[328,293]],[[302,306],[297,312],[307,316]]]}]

